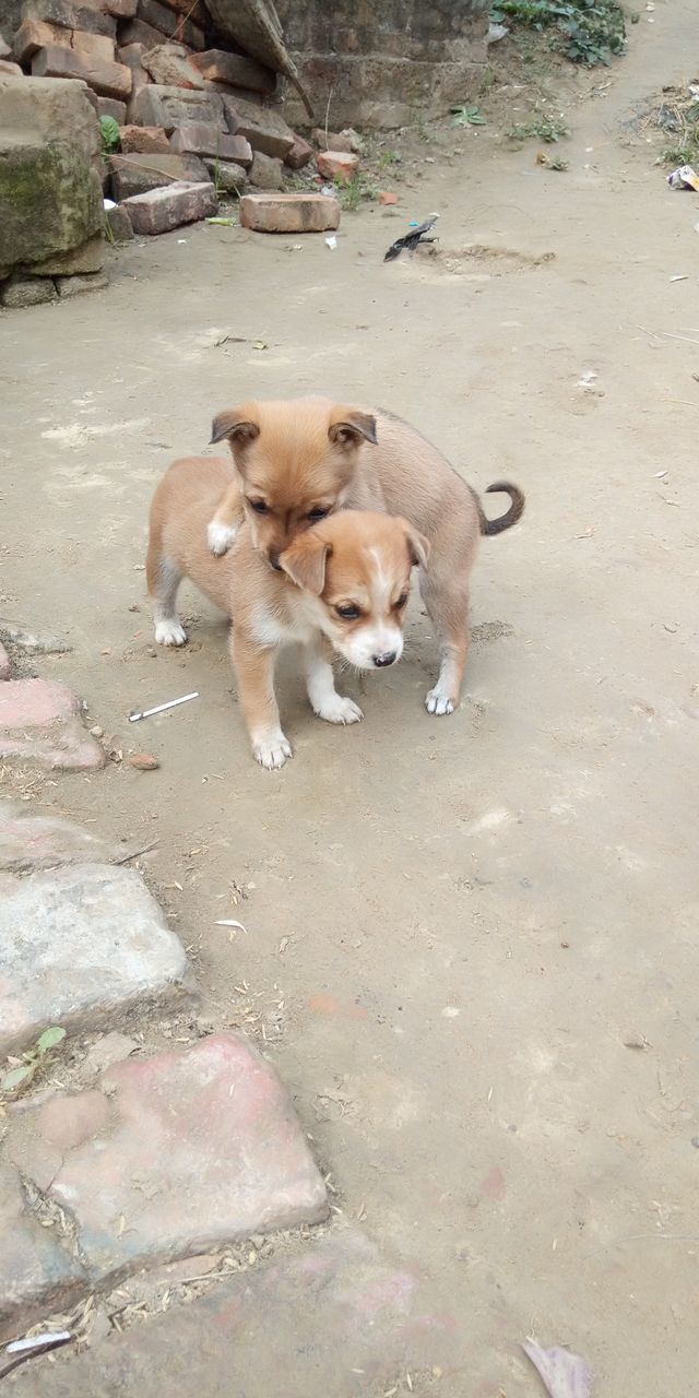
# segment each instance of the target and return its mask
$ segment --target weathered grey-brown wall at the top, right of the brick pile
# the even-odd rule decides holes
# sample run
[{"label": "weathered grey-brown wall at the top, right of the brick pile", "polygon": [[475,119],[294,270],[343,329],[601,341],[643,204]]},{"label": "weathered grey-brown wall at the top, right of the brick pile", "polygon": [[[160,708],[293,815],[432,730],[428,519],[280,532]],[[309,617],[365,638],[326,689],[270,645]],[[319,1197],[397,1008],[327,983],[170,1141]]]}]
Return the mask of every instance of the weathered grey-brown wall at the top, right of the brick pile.
[{"label": "weathered grey-brown wall at the top, right of the brick pile", "polygon": [[[275,0],[317,117],[391,129],[468,98],[487,60],[488,0]],[[298,106],[298,110],[296,110]],[[289,92],[285,115],[303,120]]]}]

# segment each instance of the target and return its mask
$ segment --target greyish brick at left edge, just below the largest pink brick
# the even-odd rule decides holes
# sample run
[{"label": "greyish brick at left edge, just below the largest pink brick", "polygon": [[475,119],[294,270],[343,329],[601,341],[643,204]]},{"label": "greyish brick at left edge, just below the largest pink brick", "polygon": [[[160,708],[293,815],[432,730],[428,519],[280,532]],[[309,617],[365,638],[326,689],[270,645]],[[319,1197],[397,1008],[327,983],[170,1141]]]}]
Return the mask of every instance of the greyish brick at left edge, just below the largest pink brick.
[{"label": "greyish brick at left edge, just below the largest pink brick", "polygon": [[53,1229],[32,1216],[18,1173],[0,1165],[0,1342],[53,1310],[70,1310],[85,1272]]}]

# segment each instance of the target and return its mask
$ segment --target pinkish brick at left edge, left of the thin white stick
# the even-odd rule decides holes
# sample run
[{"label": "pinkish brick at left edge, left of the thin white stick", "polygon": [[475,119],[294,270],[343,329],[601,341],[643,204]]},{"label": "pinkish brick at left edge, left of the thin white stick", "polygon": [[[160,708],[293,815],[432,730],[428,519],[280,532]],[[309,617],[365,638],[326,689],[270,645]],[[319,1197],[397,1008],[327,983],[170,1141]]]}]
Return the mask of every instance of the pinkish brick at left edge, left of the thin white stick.
[{"label": "pinkish brick at left edge, left of the thin white stick", "polygon": [[[29,285],[41,289],[45,284],[32,278]],[[85,733],[81,713],[80,699],[57,681],[8,679],[0,688],[0,756],[46,768],[103,766],[102,748]]]}]

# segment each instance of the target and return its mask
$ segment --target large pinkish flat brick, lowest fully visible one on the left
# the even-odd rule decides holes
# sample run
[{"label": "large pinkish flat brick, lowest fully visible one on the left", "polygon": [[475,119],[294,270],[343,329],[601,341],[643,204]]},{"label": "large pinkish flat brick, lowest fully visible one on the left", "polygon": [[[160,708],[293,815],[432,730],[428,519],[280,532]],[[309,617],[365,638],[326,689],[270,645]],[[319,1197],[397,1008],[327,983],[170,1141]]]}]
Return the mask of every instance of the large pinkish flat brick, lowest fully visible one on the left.
[{"label": "large pinkish flat brick, lowest fully visible one on the left", "polygon": [[117,1062],[22,1117],[22,1173],[70,1209],[94,1283],[327,1216],[287,1092],[235,1033]]}]

